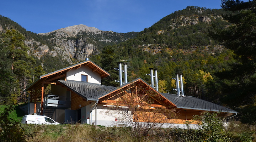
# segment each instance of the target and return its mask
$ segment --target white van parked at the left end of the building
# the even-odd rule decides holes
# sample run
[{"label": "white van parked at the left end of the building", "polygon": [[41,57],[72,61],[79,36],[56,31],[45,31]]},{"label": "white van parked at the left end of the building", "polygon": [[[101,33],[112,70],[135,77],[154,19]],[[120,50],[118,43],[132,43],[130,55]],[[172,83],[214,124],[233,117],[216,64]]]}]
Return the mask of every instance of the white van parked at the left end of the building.
[{"label": "white van parked at the left end of the building", "polygon": [[43,115],[25,115],[21,120],[22,124],[46,124],[58,125],[59,123]]}]

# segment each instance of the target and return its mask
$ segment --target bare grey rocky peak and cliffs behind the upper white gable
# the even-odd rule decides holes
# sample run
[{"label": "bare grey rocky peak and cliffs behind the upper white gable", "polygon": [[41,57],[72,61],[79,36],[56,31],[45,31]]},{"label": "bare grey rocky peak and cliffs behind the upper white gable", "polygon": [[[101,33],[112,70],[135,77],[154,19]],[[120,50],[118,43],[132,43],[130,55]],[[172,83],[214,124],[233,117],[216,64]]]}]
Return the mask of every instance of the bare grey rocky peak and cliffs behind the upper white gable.
[{"label": "bare grey rocky peak and cliffs behind the upper white gable", "polygon": [[40,33],[52,47],[35,41],[34,39],[25,41],[30,47],[30,54],[38,59],[44,55],[61,56],[69,63],[74,60],[80,62],[89,57],[93,52],[98,52],[103,46],[116,44],[133,38],[136,33],[116,33],[112,31],[102,31],[95,27],[86,25],[74,25],[49,33]]}]

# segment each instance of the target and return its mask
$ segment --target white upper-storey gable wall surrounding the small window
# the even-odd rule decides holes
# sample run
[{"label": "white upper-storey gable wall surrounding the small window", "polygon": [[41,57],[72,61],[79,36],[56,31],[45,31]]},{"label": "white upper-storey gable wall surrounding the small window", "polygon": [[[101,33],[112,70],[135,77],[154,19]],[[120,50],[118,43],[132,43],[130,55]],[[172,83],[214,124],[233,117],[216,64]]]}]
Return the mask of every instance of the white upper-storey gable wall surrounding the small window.
[{"label": "white upper-storey gable wall surrounding the small window", "polygon": [[89,83],[101,84],[101,76],[96,72],[92,72],[89,67],[80,67],[78,69],[71,69],[66,73],[67,80],[81,81],[81,76],[87,75],[87,81]]}]

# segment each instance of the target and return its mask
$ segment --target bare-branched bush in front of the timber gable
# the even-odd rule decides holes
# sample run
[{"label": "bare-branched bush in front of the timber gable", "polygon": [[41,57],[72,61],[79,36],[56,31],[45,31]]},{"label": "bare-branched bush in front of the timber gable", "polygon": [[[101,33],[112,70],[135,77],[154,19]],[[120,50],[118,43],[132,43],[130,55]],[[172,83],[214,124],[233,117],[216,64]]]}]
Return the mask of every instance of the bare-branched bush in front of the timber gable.
[{"label": "bare-branched bush in front of the timber gable", "polygon": [[149,136],[159,127],[168,127],[176,118],[170,105],[161,104],[163,98],[147,87],[130,87],[112,98],[104,111],[114,116],[119,123],[132,129],[132,135],[139,139]]}]

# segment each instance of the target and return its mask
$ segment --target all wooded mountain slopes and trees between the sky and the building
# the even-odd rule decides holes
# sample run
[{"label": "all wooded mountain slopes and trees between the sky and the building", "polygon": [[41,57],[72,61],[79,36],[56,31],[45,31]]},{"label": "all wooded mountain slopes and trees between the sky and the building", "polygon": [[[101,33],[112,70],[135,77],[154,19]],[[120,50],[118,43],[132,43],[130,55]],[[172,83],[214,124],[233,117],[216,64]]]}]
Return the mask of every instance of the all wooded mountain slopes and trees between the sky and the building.
[{"label": "all wooded mountain slopes and trees between the sky and the building", "polygon": [[[0,103],[26,102],[22,90],[33,80],[85,59],[80,55],[91,48],[91,53],[87,54],[89,59],[111,74],[102,81],[104,85],[118,86],[114,81],[119,80],[118,72],[114,68],[118,67],[120,59],[129,60],[128,81],[142,78],[150,84],[150,76],[146,73],[154,67],[158,68],[159,91],[176,93],[172,78],[182,74],[185,95],[232,108],[241,113],[244,122],[255,123],[256,116],[250,111],[256,110],[256,91],[252,87],[256,57],[252,41],[256,40],[254,36],[247,38],[253,35],[254,29],[251,33],[244,30],[250,31],[248,29],[256,23],[253,21],[254,7],[249,7],[248,2],[223,2],[224,8],[220,10],[188,6],[142,32],[126,34],[95,29],[68,35],[66,29],[60,29],[38,35],[0,16]],[[242,6],[234,8],[233,5]],[[249,16],[240,21],[232,17],[234,13],[238,17]],[[246,25],[240,24],[245,21]],[[245,38],[236,41],[240,36]],[[67,43],[75,48],[65,49]],[[247,45],[248,52],[241,50],[243,45]],[[69,53],[74,56],[56,52],[63,49],[72,51]]]}]

